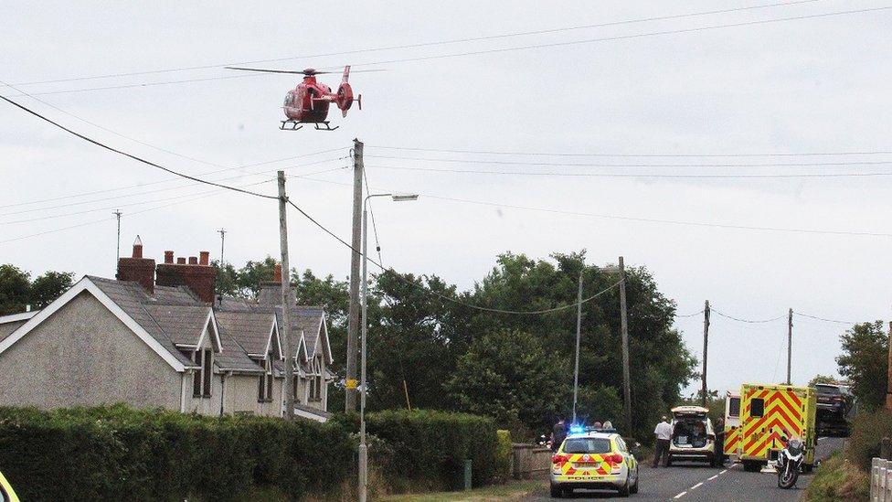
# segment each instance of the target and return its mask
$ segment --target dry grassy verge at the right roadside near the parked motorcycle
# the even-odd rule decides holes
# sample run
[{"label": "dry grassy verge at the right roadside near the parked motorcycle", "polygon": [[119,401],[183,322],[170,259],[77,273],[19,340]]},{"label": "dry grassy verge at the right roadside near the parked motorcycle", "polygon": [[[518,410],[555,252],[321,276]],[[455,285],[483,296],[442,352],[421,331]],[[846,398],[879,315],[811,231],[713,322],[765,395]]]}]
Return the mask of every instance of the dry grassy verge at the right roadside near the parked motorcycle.
[{"label": "dry grassy verge at the right roadside near the parked motorcycle", "polygon": [[846,460],[842,453],[836,452],[815,471],[802,499],[806,502],[834,502],[867,500],[869,496],[870,476]]}]

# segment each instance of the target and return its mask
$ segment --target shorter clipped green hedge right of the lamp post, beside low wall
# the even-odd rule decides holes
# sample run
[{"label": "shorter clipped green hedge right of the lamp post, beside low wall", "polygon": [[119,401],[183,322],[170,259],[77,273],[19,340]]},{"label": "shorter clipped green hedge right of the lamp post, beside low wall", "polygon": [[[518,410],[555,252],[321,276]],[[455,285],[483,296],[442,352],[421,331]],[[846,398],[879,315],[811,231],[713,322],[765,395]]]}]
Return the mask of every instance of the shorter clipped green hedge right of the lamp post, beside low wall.
[{"label": "shorter clipped green hedge right of the lamp post, beside low wall", "polygon": [[[339,420],[358,430],[358,417]],[[464,461],[471,460],[474,486],[497,477],[498,436],[486,417],[446,411],[377,411],[366,415],[366,432],[387,444],[388,458],[378,463],[391,486],[457,489],[462,487]],[[369,449],[373,459],[376,452]],[[409,484],[405,483],[409,481]]]}]

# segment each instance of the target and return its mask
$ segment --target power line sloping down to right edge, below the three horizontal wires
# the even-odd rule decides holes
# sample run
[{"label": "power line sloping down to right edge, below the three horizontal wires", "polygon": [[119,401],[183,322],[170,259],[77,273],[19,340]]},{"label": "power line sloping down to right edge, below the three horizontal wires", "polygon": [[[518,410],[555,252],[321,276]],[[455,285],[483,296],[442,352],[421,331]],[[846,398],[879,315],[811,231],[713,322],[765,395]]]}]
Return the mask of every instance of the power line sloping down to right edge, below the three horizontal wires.
[{"label": "power line sloping down to right edge, below the three horizontal wires", "polygon": [[[309,181],[315,181],[317,183],[329,183],[332,185],[340,185],[343,187],[348,186],[345,183],[339,183],[336,181],[331,181],[328,179],[316,179],[312,177],[305,178]],[[392,190],[399,191],[399,190]],[[623,221],[640,221],[643,223],[661,223],[668,225],[681,225],[688,227],[704,227],[704,228],[717,228],[717,229],[727,229],[727,230],[759,230],[759,231],[772,231],[772,232],[791,232],[791,233],[806,233],[806,234],[818,234],[818,235],[851,235],[858,237],[892,237],[892,233],[883,233],[883,232],[867,232],[867,231],[850,231],[850,230],[814,230],[814,229],[796,229],[796,228],[782,228],[782,227],[762,227],[755,225],[733,225],[728,223],[711,223],[706,221],[688,221],[682,219],[656,219],[656,218],[642,218],[642,217],[632,217],[632,216],[622,216],[616,214],[605,214],[605,213],[588,213],[582,211],[568,211],[562,209],[553,209],[553,208],[536,208],[531,206],[520,206],[517,204],[503,204],[498,202],[489,202],[484,200],[472,200],[468,198],[451,198],[451,197],[443,197],[432,194],[420,194],[425,198],[434,198],[439,200],[447,200],[451,202],[461,202],[465,204],[476,204],[480,206],[489,206],[492,208],[512,208],[512,209],[524,209],[528,211],[539,211],[545,213],[552,214],[562,214],[568,216],[582,216],[589,218],[599,218],[599,219],[618,219]]]}]

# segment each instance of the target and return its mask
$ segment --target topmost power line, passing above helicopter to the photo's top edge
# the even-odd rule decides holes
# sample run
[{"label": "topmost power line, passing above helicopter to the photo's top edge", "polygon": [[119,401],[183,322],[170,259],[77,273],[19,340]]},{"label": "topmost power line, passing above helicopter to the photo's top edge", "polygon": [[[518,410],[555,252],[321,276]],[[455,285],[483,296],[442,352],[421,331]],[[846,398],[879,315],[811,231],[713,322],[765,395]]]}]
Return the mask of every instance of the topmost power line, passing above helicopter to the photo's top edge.
[{"label": "topmost power line, passing above helicopter to the photo's top edge", "polygon": [[[559,27],[559,28],[551,28],[551,29],[539,29],[534,31],[521,31],[514,33],[503,33],[497,35],[490,35],[484,37],[466,37],[466,38],[453,38],[449,40],[436,40],[430,42],[419,42],[415,44],[399,44],[393,46],[386,47],[378,47],[378,48],[358,48],[352,50],[338,51],[338,52],[328,52],[324,54],[313,54],[306,56],[289,56],[285,58],[275,58],[275,59],[255,59],[251,61],[239,61],[239,62],[229,62],[222,64],[213,64],[213,65],[196,65],[196,66],[188,66],[188,67],[178,67],[178,68],[168,68],[168,69],[153,69],[153,70],[143,70],[143,71],[130,71],[130,72],[119,72],[119,73],[108,73],[104,75],[92,75],[88,77],[71,77],[67,79],[56,79],[56,80],[32,80],[27,82],[18,82],[16,85],[37,85],[37,84],[47,84],[47,83],[58,83],[58,82],[69,82],[69,81],[77,81],[77,80],[97,80],[97,79],[110,79],[110,78],[119,78],[119,77],[133,77],[140,75],[151,75],[157,73],[173,73],[177,71],[192,71],[196,69],[218,69],[227,66],[233,65],[245,65],[245,64],[256,64],[256,63],[271,63],[271,62],[280,62],[280,61],[288,61],[292,59],[311,59],[311,58],[324,58],[330,56],[346,56],[350,54],[360,54],[365,52],[377,52],[384,50],[397,50],[397,49],[405,49],[405,48],[422,48],[422,47],[430,47],[430,46],[439,46],[439,45],[449,45],[449,44],[458,44],[458,43],[466,43],[466,42],[479,42],[485,40],[494,40],[498,38],[506,38],[506,37],[525,37],[529,35],[544,35],[547,33],[558,33],[564,31],[572,31],[572,30],[580,30],[580,29],[590,29],[594,27],[611,27],[618,25],[626,25],[633,23],[644,23],[650,21],[665,21],[669,19],[678,19],[683,17],[695,17],[695,16],[710,16],[716,14],[727,14],[732,12],[742,12],[748,10],[757,10],[757,9],[765,9],[771,7],[781,7],[781,6],[790,6],[790,5],[802,5],[802,4],[811,4],[817,2],[819,0],[800,0],[795,2],[781,2],[776,4],[762,4],[762,5],[749,5],[743,7],[735,7],[729,9],[722,10],[712,10],[705,12],[693,12],[686,14],[676,14],[670,16],[653,16],[653,17],[643,17],[637,19],[625,19],[621,21],[611,21],[606,23],[598,23],[593,25],[583,25],[576,27]],[[236,77],[229,77],[236,78]],[[196,81],[196,80],[182,80],[182,81]],[[178,82],[171,82],[178,83]]]}]

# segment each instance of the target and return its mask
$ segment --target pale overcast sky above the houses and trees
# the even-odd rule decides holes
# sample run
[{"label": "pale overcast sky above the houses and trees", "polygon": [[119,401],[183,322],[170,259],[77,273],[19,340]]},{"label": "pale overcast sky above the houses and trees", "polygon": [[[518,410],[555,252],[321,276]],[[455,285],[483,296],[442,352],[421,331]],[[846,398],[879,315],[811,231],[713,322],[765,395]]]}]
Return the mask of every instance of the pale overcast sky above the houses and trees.
[{"label": "pale overcast sky above the houses and trees", "polygon": [[[553,251],[586,249],[592,263],[616,262],[622,254],[627,264],[646,266],[683,315],[698,312],[708,299],[724,314],[751,320],[784,316],[788,308],[844,321],[888,319],[888,235],[728,229],[665,220],[890,234],[890,176],[741,179],[516,173],[892,173],[892,154],[630,157],[382,148],[611,155],[889,152],[892,10],[629,37],[886,6],[883,2],[800,2],[308,57],[759,4],[159,2],[146,8],[137,3],[5,1],[0,4],[0,80],[7,83],[210,68],[16,86],[39,93],[35,97],[45,102],[0,89],[83,134],[191,175],[225,179],[236,186],[267,180],[250,189],[271,194],[276,169],[285,167],[291,175],[327,171],[291,178],[289,192],[295,203],[345,237],[350,230],[352,175],[344,167],[349,166],[352,139],[358,137],[367,144],[373,191],[422,194],[415,203],[379,199],[374,205],[385,262],[398,271],[437,273],[461,288],[482,278],[500,252],[546,258]],[[363,66],[603,38],[619,39]],[[363,110],[352,110],[346,119],[333,112],[333,125],[340,126],[334,133],[282,132],[281,100],[299,77],[222,69],[262,59],[281,60],[251,66],[353,64],[355,69],[387,71],[353,74]],[[199,81],[140,85],[173,80]],[[334,87],[339,76],[320,80]],[[305,156],[207,174],[299,155]],[[843,165],[789,166],[814,163]],[[661,166],[641,166],[654,164]],[[704,164],[720,166],[695,166]],[[438,173],[415,169],[419,167],[515,174]],[[99,193],[83,195],[88,192]],[[122,253],[129,252],[140,234],[146,255],[157,260],[165,250],[177,256],[208,250],[217,256],[220,228],[228,231],[229,262],[241,265],[278,253],[274,201],[173,180],[6,103],[0,103],[0,196],[0,262],[34,274],[49,269],[112,276],[115,208],[124,215]],[[289,219],[292,265],[344,278],[348,251],[295,211]],[[32,237],[17,239],[25,236]],[[699,357],[702,317],[680,317],[677,326]],[[795,382],[834,373],[838,336],[845,327],[795,319]],[[785,318],[748,324],[714,314],[710,388],[783,379],[786,330]]]}]

